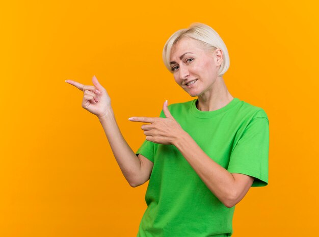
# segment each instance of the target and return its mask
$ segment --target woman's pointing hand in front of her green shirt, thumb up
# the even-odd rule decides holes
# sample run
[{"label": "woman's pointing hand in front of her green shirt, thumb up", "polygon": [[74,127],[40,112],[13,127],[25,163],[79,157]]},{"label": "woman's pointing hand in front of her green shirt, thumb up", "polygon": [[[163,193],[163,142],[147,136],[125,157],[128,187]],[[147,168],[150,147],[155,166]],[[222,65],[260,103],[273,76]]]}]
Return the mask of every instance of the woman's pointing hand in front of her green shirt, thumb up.
[{"label": "woman's pointing hand in front of her green shirt, thumb up", "polygon": [[166,118],[153,117],[131,117],[128,120],[133,122],[150,123],[141,126],[146,135],[146,140],[159,144],[173,144],[182,136],[184,130],[179,123],[173,118],[168,110],[167,100],[163,105],[163,112]]}]

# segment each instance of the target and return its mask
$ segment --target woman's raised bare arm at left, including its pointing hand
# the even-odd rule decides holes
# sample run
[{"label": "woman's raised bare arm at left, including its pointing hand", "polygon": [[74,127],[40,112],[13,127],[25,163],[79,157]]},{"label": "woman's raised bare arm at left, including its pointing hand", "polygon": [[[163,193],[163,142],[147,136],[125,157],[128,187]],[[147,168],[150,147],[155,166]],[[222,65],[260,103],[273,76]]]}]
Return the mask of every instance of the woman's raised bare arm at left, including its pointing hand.
[{"label": "woman's raised bare arm at left, including its pointing hand", "polygon": [[115,120],[111,98],[96,76],[92,77],[94,86],[83,85],[72,80],[65,80],[65,82],[84,92],[82,107],[99,118],[115,159],[129,185],[137,187],[146,182],[150,177],[153,163],[141,154],[137,157],[124,140]]}]

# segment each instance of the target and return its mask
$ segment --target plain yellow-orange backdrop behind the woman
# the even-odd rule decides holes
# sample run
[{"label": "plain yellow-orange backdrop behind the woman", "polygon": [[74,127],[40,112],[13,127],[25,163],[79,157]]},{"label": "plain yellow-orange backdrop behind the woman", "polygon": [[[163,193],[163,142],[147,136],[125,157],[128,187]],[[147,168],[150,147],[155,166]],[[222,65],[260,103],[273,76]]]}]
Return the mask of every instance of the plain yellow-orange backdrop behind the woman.
[{"label": "plain yellow-orange backdrop behind the woman", "polygon": [[96,75],[135,151],[131,116],[193,99],[162,62],[176,30],[203,22],[230,55],[230,93],[270,120],[269,185],[236,205],[233,236],[314,236],[318,223],[315,1],[8,1],[1,20],[0,236],[136,236],[147,183],[131,188],[97,117]]}]

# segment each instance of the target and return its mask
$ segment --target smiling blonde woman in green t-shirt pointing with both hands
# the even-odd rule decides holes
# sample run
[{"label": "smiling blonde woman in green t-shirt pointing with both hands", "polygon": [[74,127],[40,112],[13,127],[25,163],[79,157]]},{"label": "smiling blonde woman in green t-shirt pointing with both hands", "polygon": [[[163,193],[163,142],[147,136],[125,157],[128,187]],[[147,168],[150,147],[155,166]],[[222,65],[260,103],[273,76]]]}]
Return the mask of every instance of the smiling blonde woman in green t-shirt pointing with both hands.
[{"label": "smiling blonde woman in green t-shirt pointing with both hands", "polygon": [[[82,106],[98,116],[130,186],[149,179],[138,236],[230,236],[237,204],[250,187],[268,184],[269,121],[263,109],[234,98],[223,80],[226,45],[205,24],[175,32],[163,60],[176,83],[197,99],[164,103],[159,118],[131,117],[146,140],[135,153],[116,124],[107,91],[84,91]],[[98,90],[98,91],[96,91]]]}]

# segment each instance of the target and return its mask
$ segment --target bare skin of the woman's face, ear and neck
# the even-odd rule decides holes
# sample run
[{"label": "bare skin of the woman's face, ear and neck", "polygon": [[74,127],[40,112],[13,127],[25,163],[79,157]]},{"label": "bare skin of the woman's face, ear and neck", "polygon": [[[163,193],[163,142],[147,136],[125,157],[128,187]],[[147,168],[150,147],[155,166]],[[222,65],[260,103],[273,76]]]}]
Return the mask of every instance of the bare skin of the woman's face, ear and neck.
[{"label": "bare skin of the woman's face, ear and neck", "polygon": [[[180,59],[182,55],[183,58]],[[190,96],[198,96],[199,110],[218,110],[233,99],[223,77],[218,76],[218,70],[223,62],[221,49],[215,49],[211,53],[197,40],[182,38],[172,47],[170,62],[175,82]],[[194,79],[198,79],[197,82],[188,88],[185,82]]]}]

